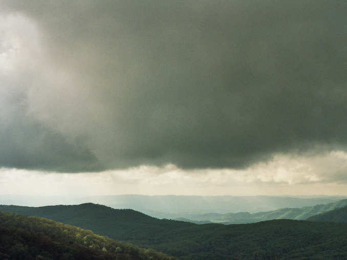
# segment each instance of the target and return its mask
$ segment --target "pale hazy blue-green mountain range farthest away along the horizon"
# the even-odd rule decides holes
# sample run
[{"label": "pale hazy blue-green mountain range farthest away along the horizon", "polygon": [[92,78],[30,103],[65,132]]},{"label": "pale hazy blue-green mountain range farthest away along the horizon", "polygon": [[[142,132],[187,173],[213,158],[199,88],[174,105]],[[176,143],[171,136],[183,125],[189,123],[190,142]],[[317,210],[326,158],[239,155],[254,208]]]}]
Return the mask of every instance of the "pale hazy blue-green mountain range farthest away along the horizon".
[{"label": "pale hazy blue-green mountain range farthest away along the horizon", "polygon": [[338,196],[145,196],[117,195],[84,198],[2,195],[0,204],[21,206],[74,205],[96,203],[118,209],[134,209],[166,219],[194,217],[207,213],[264,212],[278,208],[301,208],[328,204],[347,197]]}]

